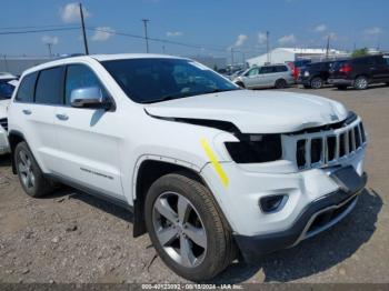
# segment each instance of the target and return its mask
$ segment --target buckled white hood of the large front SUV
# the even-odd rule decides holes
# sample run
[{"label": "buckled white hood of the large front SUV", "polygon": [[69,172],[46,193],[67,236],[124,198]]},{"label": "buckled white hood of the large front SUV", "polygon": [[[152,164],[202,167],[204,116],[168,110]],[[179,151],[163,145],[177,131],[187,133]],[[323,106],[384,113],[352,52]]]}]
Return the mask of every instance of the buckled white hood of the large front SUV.
[{"label": "buckled white hood of the large front SUV", "polygon": [[232,122],[243,133],[282,133],[336,123],[348,111],[339,102],[303,93],[236,90],[146,106],[160,118]]}]

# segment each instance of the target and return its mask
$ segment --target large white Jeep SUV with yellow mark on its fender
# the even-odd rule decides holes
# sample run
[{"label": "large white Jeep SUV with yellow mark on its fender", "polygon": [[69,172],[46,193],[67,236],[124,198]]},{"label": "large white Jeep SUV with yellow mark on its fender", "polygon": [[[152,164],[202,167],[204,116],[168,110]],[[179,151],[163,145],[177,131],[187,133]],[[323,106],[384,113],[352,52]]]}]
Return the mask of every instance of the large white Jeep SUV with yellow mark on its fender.
[{"label": "large white Jeep SUV with yellow mark on its fender", "polygon": [[9,140],[27,194],[60,182],[133,211],[133,235],[193,281],[328,229],[366,183],[363,126],[340,103],[243,90],[159,54],[27,70]]}]

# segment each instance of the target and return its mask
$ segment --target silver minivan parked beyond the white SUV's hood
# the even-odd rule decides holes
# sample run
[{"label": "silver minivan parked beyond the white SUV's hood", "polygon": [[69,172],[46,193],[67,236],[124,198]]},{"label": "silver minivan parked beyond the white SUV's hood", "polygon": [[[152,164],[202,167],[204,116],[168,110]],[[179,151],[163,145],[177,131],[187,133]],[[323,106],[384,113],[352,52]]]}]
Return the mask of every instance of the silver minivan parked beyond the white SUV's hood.
[{"label": "silver minivan parked beyond the white SUV's hood", "polygon": [[242,88],[285,88],[295,83],[292,71],[287,64],[253,67],[237,77],[233,82]]}]

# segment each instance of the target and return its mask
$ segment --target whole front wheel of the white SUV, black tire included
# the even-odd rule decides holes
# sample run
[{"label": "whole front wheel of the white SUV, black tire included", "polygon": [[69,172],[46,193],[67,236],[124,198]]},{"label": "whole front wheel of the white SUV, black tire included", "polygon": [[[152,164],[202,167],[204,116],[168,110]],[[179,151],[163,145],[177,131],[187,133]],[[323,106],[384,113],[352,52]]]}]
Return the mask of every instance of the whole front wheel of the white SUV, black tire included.
[{"label": "whole front wheel of the white SUV, black tire included", "polygon": [[[178,211],[179,204],[186,211]],[[161,214],[167,210],[168,215]],[[162,261],[188,280],[209,280],[236,257],[231,231],[212,194],[203,184],[184,174],[167,174],[152,183],[146,198],[144,215],[150,240]],[[167,231],[170,235],[162,235]],[[190,255],[181,250],[182,244],[189,245]]]}]

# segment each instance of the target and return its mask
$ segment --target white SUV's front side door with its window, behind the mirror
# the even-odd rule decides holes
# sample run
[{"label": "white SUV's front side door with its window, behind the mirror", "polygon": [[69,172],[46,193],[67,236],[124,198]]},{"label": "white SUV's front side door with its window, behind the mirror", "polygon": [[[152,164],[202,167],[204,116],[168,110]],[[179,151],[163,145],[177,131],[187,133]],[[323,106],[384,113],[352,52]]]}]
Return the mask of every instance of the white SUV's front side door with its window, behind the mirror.
[{"label": "white SUV's front side door with its window, behind the mirror", "polygon": [[90,67],[68,64],[64,78],[64,107],[56,112],[56,130],[61,150],[61,175],[100,194],[123,199],[118,150],[118,132],[123,127],[118,114],[103,109],[71,107],[73,90],[107,89]]}]

